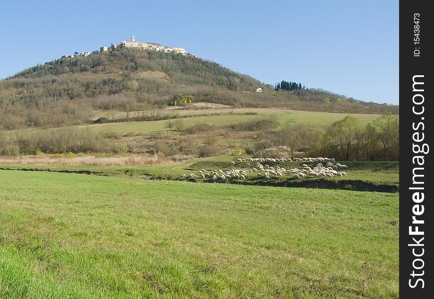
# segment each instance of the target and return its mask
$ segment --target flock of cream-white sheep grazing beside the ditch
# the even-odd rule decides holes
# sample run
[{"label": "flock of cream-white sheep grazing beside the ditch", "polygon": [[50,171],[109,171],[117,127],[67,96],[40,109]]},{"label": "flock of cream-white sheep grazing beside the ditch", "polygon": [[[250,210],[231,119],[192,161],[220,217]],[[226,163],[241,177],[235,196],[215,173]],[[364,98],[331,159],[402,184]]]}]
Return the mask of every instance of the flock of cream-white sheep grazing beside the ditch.
[{"label": "flock of cream-white sheep grazing beside the ditch", "polygon": [[[291,161],[305,161],[308,163],[318,162],[313,168],[308,166],[307,164],[302,164],[302,168],[290,168],[285,169],[280,167],[279,165],[269,166],[268,164],[261,164],[260,162],[291,162]],[[292,175],[297,178],[306,177],[306,176],[323,176],[323,177],[333,177],[333,176],[346,176],[347,173],[342,171],[342,169],[346,169],[347,165],[336,163],[334,158],[238,158],[238,164],[243,164],[246,167],[248,166],[250,169],[230,169],[230,170],[210,170],[201,169],[199,174],[190,173],[190,174],[181,174],[181,178],[209,178],[214,181],[221,181],[227,179],[245,179],[249,173],[255,173],[257,177],[262,178],[276,178],[280,179],[284,174]],[[237,162],[232,161],[231,164],[235,165]],[[254,167],[249,162],[256,162]],[[324,163],[324,164],[323,164]]]}]

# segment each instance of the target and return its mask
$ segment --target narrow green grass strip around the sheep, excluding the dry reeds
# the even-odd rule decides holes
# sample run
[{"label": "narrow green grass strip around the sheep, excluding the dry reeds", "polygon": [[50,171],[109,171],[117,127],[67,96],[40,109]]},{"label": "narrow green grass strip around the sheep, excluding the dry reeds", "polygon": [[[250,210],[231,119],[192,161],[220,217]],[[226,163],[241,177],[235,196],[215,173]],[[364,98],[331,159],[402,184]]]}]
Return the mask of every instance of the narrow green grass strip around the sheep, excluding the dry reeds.
[{"label": "narrow green grass strip around the sheep, excluding the dry reeds", "polygon": [[[230,162],[236,160],[238,156],[220,156],[212,158],[198,158],[184,163],[163,163],[155,166],[89,166],[89,165],[38,165],[38,164],[0,164],[3,169],[37,169],[48,170],[57,172],[78,172],[85,174],[97,174],[106,176],[121,176],[121,177],[148,177],[163,178],[169,180],[179,180],[180,175],[183,173],[196,173],[200,174],[200,169],[222,169],[228,170],[235,169],[251,169],[254,164],[248,166],[246,163],[237,162],[232,165]],[[290,174],[285,174],[281,180],[276,181],[275,178],[264,179],[258,178],[257,173],[249,173],[246,180],[234,179],[231,183],[243,183],[251,185],[288,185],[288,186],[310,186],[310,187],[326,187],[337,189],[354,189],[354,190],[376,190],[396,192],[399,189],[399,162],[354,162],[354,161],[340,161],[348,165],[346,169],[347,176],[332,177],[332,178],[319,178],[319,177],[305,177],[295,178]],[[287,162],[287,163],[264,163],[270,166],[279,165],[281,167],[289,168],[302,168],[304,162]],[[314,166],[313,163],[311,166]],[[210,178],[202,179],[189,179],[196,182],[209,182]],[[324,181],[326,184],[324,184]],[[327,181],[331,184],[327,185]],[[314,182],[322,182],[320,186],[315,185]],[[339,182],[340,185],[339,185]],[[362,186],[358,186],[362,183]],[[368,186],[366,186],[368,184]],[[346,187],[347,186],[347,187]]]}]

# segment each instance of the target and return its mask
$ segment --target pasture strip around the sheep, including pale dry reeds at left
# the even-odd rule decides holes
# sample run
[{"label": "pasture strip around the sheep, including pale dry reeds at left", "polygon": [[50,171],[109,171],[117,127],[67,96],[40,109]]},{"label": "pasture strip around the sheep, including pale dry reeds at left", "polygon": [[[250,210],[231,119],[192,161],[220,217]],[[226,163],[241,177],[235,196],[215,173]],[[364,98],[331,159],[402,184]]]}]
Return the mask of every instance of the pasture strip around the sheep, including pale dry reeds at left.
[{"label": "pasture strip around the sheep, including pale dry reeds at left", "polygon": [[[129,178],[154,178],[167,180],[181,180],[181,174],[196,173],[207,169],[252,169],[254,165],[231,161],[238,156],[219,156],[209,158],[196,158],[182,162],[170,162],[165,157],[150,155],[145,158],[137,156],[110,156],[110,157],[72,157],[49,158],[48,156],[33,156],[21,158],[0,158],[0,169],[9,170],[38,170],[50,172],[75,172],[105,176],[120,176]],[[348,165],[347,176],[323,179],[320,177],[295,178],[284,175],[282,179],[258,178],[256,173],[249,173],[245,180],[227,180],[233,184],[268,185],[268,186],[303,186],[313,188],[349,189],[362,191],[399,191],[399,162],[367,162],[367,161],[340,161]],[[81,164],[80,164],[81,163]],[[280,165],[285,168],[302,168],[304,162],[264,163],[270,166]],[[310,163],[314,166],[316,163]],[[214,182],[211,178],[188,178],[192,182]]]}]

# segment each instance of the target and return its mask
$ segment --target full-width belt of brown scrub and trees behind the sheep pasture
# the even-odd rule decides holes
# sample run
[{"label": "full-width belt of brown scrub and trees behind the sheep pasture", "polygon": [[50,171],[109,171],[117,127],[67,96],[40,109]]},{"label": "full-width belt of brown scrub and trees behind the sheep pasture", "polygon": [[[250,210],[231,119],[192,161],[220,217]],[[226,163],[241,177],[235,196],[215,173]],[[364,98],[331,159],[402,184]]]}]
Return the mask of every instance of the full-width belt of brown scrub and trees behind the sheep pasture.
[{"label": "full-width belt of brown scrub and trees behind the sheep pasture", "polygon": [[[167,138],[165,132],[152,134],[148,151],[166,155],[223,154],[215,146],[217,136],[241,134],[231,141],[255,157],[327,156],[338,160],[399,160],[399,116],[384,114],[367,125],[353,116],[320,125],[287,125],[278,128],[274,117],[217,126],[209,124],[186,127],[182,119],[169,120],[167,128],[176,135]],[[250,137],[246,137],[250,134]],[[212,137],[212,138],[211,138]],[[247,140],[253,140],[248,141]],[[205,145],[203,143],[205,142]],[[112,152],[131,150],[124,139],[115,133],[95,134],[87,128],[58,128],[40,131],[0,131],[0,155],[66,152]]]}]

